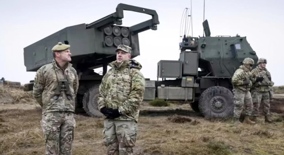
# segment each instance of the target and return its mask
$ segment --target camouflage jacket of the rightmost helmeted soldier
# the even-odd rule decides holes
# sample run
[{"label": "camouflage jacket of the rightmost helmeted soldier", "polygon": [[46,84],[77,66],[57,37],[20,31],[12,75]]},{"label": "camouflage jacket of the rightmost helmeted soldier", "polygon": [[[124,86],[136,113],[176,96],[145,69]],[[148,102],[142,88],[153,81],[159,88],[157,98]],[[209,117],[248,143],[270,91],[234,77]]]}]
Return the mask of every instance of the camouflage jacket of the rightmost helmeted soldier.
[{"label": "camouflage jacket of the rightmost helmeted soldier", "polygon": [[[263,77],[262,81],[256,82],[257,77]],[[270,90],[270,86],[274,85],[274,82],[269,80],[271,78],[270,72],[264,68],[260,69],[258,66],[251,71],[251,81],[253,83],[253,89],[259,92],[267,92]]]}]

